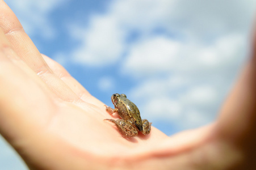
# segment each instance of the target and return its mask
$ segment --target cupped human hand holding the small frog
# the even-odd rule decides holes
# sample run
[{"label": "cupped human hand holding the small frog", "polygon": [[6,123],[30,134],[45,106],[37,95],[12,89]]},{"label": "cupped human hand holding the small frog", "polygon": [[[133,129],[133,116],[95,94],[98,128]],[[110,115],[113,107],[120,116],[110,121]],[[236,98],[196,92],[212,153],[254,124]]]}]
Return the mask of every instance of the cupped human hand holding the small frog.
[{"label": "cupped human hand holding the small frog", "polygon": [[127,139],[103,121],[112,117],[102,102],[40,54],[2,0],[0,14],[0,133],[31,169],[255,168],[255,62],[215,123]]}]

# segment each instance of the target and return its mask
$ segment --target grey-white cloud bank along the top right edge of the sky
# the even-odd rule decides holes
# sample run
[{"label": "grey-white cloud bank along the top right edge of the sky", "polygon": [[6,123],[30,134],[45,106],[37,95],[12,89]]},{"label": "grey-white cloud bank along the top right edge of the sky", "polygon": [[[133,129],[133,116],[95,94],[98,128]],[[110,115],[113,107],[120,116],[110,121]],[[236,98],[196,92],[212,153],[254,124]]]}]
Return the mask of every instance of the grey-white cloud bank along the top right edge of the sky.
[{"label": "grey-white cloud bank along the top right edge of the sky", "polygon": [[255,5],[254,0],[130,0],[114,1],[108,14],[127,29],[148,33],[161,27],[171,33],[205,40],[230,30],[245,31]]}]

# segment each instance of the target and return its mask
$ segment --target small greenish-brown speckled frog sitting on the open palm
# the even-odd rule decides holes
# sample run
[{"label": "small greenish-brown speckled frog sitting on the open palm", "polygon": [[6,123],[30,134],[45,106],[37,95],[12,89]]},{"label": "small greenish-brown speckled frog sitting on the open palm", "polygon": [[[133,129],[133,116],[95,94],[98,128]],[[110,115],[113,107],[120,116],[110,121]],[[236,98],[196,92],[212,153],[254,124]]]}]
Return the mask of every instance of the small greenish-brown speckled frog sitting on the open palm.
[{"label": "small greenish-brown speckled frog sitting on the open palm", "polygon": [[137,106],[128,100],[125,94],[114,94],[111,96],[115,109],[107,107],[106,111],[110,114],[117,113],[121,117],[119,120],[104,119],[114,123],[124,137],[135,137],[138,132],[147,135],[150,133],[151,124],[148,120],[141,120],[140,111]]}]

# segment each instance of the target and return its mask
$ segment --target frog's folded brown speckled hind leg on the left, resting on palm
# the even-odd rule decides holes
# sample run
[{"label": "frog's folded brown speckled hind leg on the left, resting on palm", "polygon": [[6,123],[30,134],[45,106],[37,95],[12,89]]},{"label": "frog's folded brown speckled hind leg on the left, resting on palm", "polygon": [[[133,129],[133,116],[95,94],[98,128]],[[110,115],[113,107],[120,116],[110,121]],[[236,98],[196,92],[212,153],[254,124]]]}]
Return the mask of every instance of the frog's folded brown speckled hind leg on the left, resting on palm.
[{"label": "frog's folded brown speckled hind leg on the left, resting on palm", "polygon": [[120,133],[123,135],[123,137],[130,138],[130,137],[135,137],[138,135],[138,129],[134,126],[131,125],[131,122],[125,121],[122,119],[119,120],[114,120],[114,119],[104,119],[107,121],[110,121],[114,123]]}]

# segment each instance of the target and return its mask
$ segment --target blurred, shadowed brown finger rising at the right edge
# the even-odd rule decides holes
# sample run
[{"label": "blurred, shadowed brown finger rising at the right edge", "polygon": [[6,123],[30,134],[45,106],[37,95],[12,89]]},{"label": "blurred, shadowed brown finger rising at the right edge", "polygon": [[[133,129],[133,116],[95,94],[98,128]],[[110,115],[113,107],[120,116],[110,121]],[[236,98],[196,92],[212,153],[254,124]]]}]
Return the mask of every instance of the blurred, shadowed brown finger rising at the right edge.
[{"label": "blurred, shadowed brown finger rising at the right edge", "polygon": [[256,143],[256,63],[245,67],[228,96],[219,118],[221,138],[243,148],[254,148]]}]

